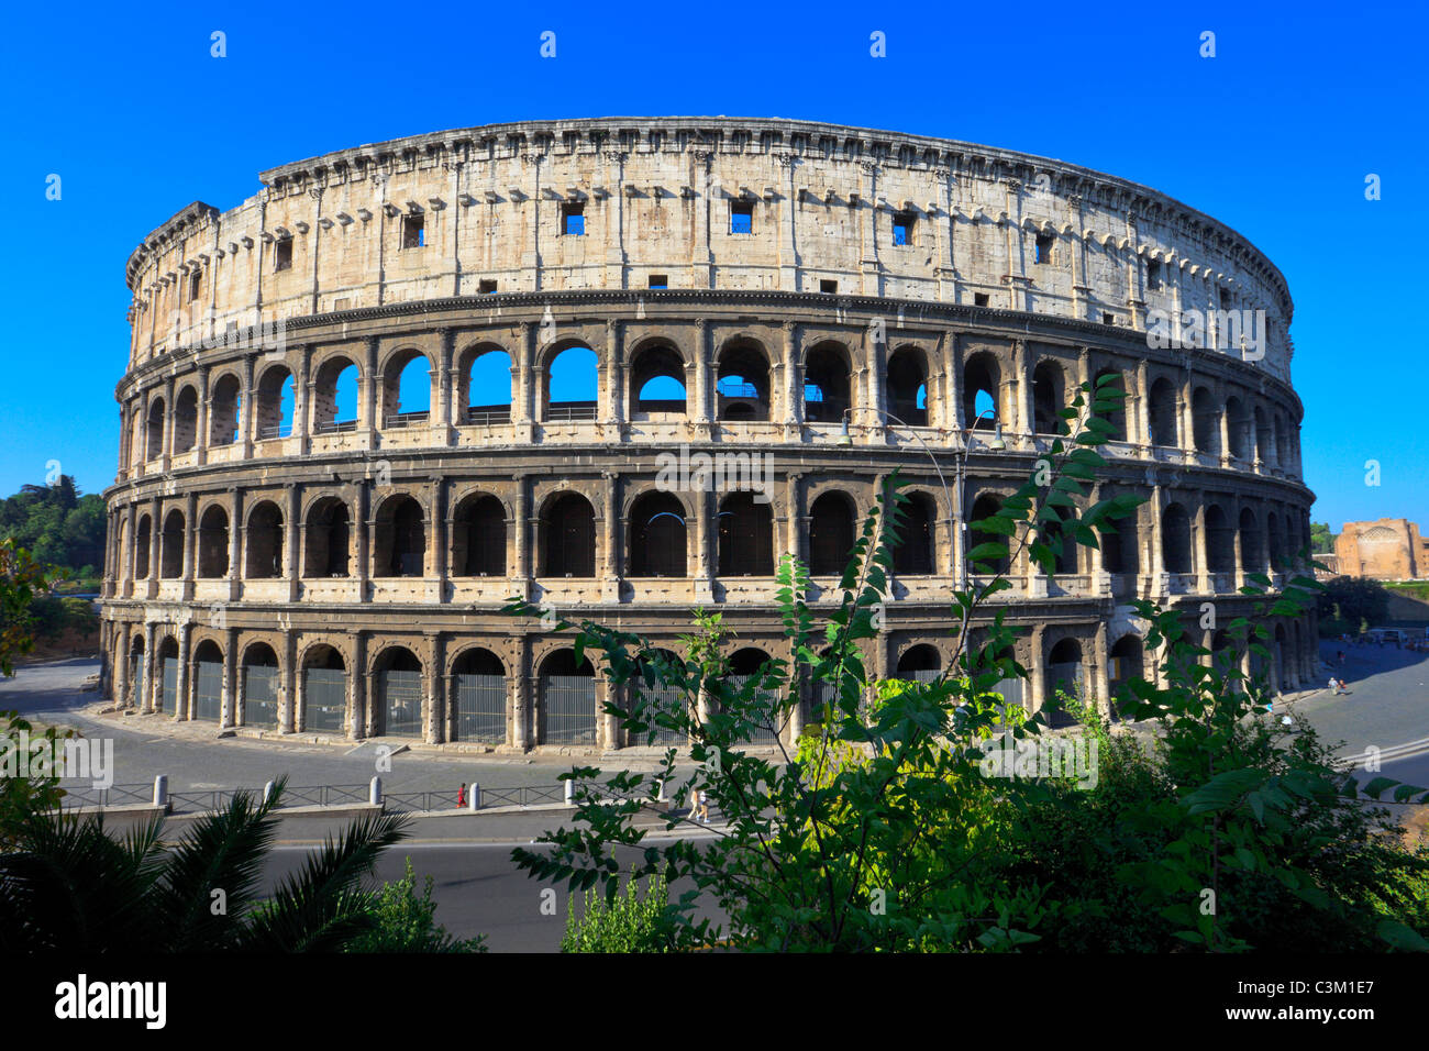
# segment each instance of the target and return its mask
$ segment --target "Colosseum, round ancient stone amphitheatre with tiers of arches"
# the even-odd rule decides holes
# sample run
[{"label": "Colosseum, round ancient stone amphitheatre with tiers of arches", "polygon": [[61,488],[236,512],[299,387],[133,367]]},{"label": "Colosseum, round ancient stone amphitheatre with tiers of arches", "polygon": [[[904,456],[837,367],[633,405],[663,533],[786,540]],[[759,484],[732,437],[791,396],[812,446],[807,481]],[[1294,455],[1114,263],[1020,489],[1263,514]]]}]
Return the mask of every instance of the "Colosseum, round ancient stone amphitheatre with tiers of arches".
[{"label": "Colosseum, round ancient stone amphitheatre with tiers of arches", "polygon": [[[750,673],[789,656],[779,559],[835,602],[895,469],[912,535],[870,665],[927,675],[952,652],[966,523],[1107,372],[1127,399],[1095,495],[1146,503],[1052,578],[1003,568],[1030,669],[1010,699],[1156,675],[1130,601],[1213,601],[1228,622],[1246,576],[1308,541],[1286,282],[1149,187],[725,117],[440,132],[260,180],[231,210],[181,209],[127,266],[103,643],[104,688],[141,712],[629,746],[569,638],[506,601],[670,649],[692,608],[719,611]],[[1253,352],[1240,316],[1263,320]],[[729,470],[669,485],[672,463]],[[1272,652],[1273,686],[1308,682],[1313,622],[1276,622]]]}]

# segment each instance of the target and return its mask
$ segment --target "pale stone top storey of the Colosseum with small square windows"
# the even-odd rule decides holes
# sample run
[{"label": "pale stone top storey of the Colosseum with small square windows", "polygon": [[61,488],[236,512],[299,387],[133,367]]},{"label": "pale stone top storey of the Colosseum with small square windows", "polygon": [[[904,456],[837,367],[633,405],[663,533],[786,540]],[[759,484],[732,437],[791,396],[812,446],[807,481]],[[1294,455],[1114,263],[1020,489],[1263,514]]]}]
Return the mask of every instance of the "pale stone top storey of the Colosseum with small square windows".
[{"label": "pale stone top storey of the Colosseum with small square windows", "polygon": [[[1263,310],[1260,365],[1289,380],[1290,296],[1249,242],[1147,187],[1006,150],[789,120],[600,119],[400,139],[262,179],[239,207],[196,202],[136,249],[130,367],[234,326],[472,296],[490,282],[663,279],[783,292],[833,282],[1137,330],[1155,312]],[[750,233],[730,229],[742,202]],[[583,236],[562,233],[567,204],[582,207]],[[409,216],[422,246],[403,245]]]}]

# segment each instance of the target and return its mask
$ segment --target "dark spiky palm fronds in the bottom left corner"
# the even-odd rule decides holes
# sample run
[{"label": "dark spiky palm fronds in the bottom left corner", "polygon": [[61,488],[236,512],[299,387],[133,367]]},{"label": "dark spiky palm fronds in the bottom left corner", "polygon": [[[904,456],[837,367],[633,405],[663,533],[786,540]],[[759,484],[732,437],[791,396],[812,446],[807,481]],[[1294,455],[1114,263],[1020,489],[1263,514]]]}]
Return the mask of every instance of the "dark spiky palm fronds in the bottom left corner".
[{"label": "dark spiky palm fronds in the bottom left corner", "polygon": [[266,952],[339,951],[377,919],[360,881],[404,835],[400,815],[376,815],[329,837],[269,898],[263,867],[284,782],[266,801],[237,792],[177,842],[154,818],[127,835],[103,816],[31,811],[0,854],[0,951]]}]

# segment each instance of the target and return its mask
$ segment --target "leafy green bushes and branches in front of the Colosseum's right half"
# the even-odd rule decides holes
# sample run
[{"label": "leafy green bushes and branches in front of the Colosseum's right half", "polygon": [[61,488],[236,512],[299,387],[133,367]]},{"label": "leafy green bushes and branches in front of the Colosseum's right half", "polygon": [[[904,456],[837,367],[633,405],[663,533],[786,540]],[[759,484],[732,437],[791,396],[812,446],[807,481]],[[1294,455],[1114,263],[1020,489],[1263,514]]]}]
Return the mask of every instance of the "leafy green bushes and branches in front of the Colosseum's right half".
[{"label": "leafy green bushes and branches in front of the Colosseum's right half", "polygon": [[[906,520],[896,475],[863,523],[827,618],[807,605],[806,569],[782,562],[792,661],[772,659],[739,681],[710,619],[683,662],[629,632],[562,622],[576,659],[589,653],[612,686],[626,688],[627,706],[609,702],[606,714],[630,741],[673,729],[692,739],[697,766],[680,781],[667,749],[652,776],[602,782],[594,768],[572,769],[563,776],[574,782],[573,827],[540,838],[549,852],[514,849],[517,865],[572,891],[596,888],[607,902],[632,878],[687,881],[692,889],[664,912],[670,944],[686,949],[1429,948],[1429,857],[1400,847],[1388,811],[1366,802],[1390,789],[1396,802],[1429,792],[1385,778],[1360,789],[1310,728],[1288,735],[1266,722],[1266,675],[1240,671],[1246,652],[1270,665],[1269,625],[1305,613],[1319,588],[1308,575],[1278,592],[1268,576],[1250,578],[1243,591],[1255,616],[1223,625],[1229,662],[1213,659],[1176,609],[1136,603],[1166,685],[1133,679],[1117,708],[1156,729],[1149,754],[1077,711],[1080,738],[1097,742],[1095,786],[985,775],[997,744],[1047,749],[1055,736],[1045,714],[1009,719],[990,692],[1027,675],[1003,611],[983,609],[1012,586],[993,566],[1010,565],[1016,545],[1050,576],[1066,543],[1096,548],[1135,510],[1140,498],[1092,499],[1105,463],[1096,448],[1112,436],[1107,419],[1122,398],[1115,383],[1083,383],[1050,455],[996,513],[972,523],[992,539],[967,553],[979,578],[952,595],[956,653],[932,682],[877,684],[865,665]],[[520,601],[509,611],[540,613]],[[775,759],[755,754],[745,742],[785,726],[806,682],[826,684],[820,695],[832,699],[816,705],[795,752],[780,744]],[[672,688],[680,705],[652,699]],[[679,799],[707,792],[723,828],[644,842],[633,819],[660,782],[679,784]],[[682,821],[672,812],[667,828]],[[727,924],[697,918],[702,895]]]}]

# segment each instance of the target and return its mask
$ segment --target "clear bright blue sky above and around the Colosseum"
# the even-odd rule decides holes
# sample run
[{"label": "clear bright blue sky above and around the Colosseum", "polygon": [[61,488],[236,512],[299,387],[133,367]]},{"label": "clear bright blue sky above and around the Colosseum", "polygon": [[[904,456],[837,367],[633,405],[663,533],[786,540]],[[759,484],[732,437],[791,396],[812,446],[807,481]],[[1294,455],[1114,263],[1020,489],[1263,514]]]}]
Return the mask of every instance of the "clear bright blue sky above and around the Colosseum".
[{"label": "clear bright blue sky above and around the Colosseum", "polygon": [[[191,200],[447,127],[729,114],[1085,164],[1230,224],[1295,297],[1315,520],[1429,528],[1426,6],[23,4],[0,40],[10,204],[0,495],[114,478],[124,262]],[[210,56],[210,34],[227,57]],[[540,34],[556,33],[556,57]],[[1216,56],[1200,57],[1200,34]],[[870,56],[870,34],[886,57]],[[61,199],[46,180],[61,177]],[[1366,200],[1378,174],[1382,199]],[[1366,485],[1366,460],[1380,485]]]}]

